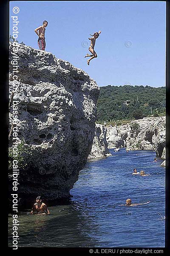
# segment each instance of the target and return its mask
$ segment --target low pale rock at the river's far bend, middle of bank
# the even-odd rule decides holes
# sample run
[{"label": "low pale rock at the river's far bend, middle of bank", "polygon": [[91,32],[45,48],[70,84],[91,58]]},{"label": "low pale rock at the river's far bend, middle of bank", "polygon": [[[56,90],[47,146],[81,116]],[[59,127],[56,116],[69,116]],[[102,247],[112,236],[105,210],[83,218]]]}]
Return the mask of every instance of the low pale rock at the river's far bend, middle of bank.
[{"label": "low pale rock at the river's far bend, middle of bank", "polygon": [[107,127],[106,139],[108,141],[108,148],[126,147],[128,129],[128,124]]}]

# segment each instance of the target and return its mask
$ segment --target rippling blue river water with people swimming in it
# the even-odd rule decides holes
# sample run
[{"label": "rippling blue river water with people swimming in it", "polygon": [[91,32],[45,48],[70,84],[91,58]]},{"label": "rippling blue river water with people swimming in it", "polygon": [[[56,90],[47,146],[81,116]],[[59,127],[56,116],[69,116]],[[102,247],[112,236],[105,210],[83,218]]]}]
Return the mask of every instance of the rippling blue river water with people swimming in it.
[{"label": "rippling blue river water with people swimming in it", "polygon": [[[164,247],[163,160],[153,163],[155,151],[110,151],[112,156],[89,161],[80,171],[68,204],[48,207],[50,215],[20,213],[18,246]],[[134,168],[150,176],[132,175]],[[119,206],[127,198],[150,203]],[[11,221],[9,216],[9,246]]]}]

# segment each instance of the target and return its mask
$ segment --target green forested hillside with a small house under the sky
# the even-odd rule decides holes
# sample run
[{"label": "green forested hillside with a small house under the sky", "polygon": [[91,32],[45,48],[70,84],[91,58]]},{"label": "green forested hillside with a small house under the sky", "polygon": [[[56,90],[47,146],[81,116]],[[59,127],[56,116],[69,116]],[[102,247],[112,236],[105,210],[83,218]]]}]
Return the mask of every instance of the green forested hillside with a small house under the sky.
[{"label": "green forested hillside with a small house under the sky", "polygon": [[165,93],[166,87],[142,85],[100,87],[97,122],[163,116],[166,107]]}]

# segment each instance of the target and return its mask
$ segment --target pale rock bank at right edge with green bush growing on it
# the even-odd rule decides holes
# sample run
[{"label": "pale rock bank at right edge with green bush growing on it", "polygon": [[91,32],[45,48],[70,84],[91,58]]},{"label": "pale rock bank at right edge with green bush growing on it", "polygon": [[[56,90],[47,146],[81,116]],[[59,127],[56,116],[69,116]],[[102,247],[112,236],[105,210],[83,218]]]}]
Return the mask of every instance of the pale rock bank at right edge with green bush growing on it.
[{"label": "pale rock bank at right edge with green bush growing on it", "polygon": [[126,139],[127,150],[155,150],[161,157],[165,146],[165,117],[134,120]]}]

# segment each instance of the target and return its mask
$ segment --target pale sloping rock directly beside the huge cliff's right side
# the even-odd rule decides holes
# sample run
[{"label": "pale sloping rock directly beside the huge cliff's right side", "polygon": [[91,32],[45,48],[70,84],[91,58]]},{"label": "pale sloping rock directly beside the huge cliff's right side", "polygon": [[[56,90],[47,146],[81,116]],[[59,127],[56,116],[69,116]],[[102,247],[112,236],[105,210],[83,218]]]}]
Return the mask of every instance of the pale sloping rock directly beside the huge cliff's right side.
[{"label": "pale sloping rock directly beside the huge cliff's right side", "polygon": [[88,159],[100,158],[110,156],[111,153],[108,150],[108,143],[106,141],[107,129],[104,125],[96,124],[95,135],[91,153],[88,155]]}]

